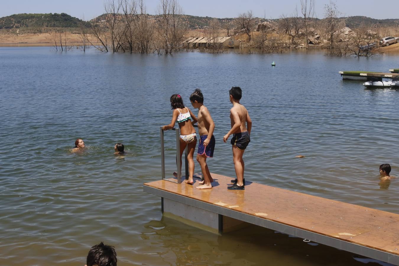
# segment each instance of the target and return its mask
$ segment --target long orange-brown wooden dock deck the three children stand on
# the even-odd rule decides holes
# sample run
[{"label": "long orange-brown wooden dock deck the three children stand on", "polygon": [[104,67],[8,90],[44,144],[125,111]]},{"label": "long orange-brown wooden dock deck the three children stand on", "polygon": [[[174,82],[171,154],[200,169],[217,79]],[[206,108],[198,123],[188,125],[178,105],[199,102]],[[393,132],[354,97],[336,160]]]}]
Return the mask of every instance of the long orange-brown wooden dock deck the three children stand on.
[{"label": "long orange-brown wooden dock deck the three children stand on", "polygon": [[[398,214],[251,183],[250,180],[247,180],[245,190],[231,191],[227,189],[231,177],[212,176],[212,189],[196,189],[196,179],[194,185],[168,180],[144,183],[143,190],[160,196],[162,204],[164,199],[180,204],[174,205],[174,209],[186,215],[190,213],[186,207],[194,207],[219,217],[230,217],[399,265]],[[198,211],[196,215],[200,216]],[[220,226],[219,221],[219,230]]]}]

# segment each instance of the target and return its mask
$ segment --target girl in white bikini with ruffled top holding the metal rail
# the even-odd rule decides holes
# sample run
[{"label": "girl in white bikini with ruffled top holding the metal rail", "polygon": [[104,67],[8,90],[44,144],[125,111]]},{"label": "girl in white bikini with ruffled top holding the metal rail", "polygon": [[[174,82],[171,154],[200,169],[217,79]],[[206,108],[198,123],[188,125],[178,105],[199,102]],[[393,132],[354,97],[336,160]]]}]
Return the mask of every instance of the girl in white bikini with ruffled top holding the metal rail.
[{"label": "girl in white bikini with ruffled top holding the metal rail", "polygon": [[[186,146],[188,146],[188,180],[185,182],[192,185],[194,183],[193,173],[194,173],[194,150],[197,145],[197,134],[196,130],[193,126],[197,122],[196,116],[184,106],[183,99],[180,95],[174,94],[170,97],[170,106],[172,107],[172,121],[170,124],[166,126],[162,126],[163,130],[168,130],[174,127],[176,121],[179,124],[180,128],[180,171],[182,166],[182,154]],[[191,121],[191,119],[193,121]],[[177,176],[177,173],[173,173],[174,176]]]}]

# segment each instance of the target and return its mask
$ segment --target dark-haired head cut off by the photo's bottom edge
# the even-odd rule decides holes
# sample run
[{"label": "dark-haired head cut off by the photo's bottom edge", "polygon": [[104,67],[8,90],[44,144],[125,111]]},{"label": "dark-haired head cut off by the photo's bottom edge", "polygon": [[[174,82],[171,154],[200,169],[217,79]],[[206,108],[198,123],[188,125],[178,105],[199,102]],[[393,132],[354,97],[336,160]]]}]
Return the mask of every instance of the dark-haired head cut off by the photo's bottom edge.
[{"label": "dark-haired head cut off by the photo's bottom edge", "polygon": [[87,266],[117,266],[117,252],[103,242],[92,246],[86,259]]}]

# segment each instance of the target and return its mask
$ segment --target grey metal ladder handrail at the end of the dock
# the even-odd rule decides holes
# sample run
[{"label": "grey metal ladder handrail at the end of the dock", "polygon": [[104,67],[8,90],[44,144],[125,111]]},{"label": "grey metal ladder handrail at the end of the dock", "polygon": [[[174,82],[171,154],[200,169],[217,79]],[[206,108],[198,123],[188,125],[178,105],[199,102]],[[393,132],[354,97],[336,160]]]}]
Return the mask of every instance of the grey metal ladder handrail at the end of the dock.
[{"label": "grey metal ladder handrail at the end of the dock", "polygon": [[[195,128],[198,128],[198,125],[193,125]],[[172,128],[170,130],[173,130],[176,132],[176,164],[177,164],[177,183],[180,184],[182,183],[182,167],[180,166],[180,128]],[[162,126],[160,127],[160,133],[161,133],[161,167],[162,167],[162,179],[165,179],[165,145],[164,145],[164,131],[162,129]],[[185,178],[188,178],[188,160],[187,160],[187,154],[188,154],[188,146],[186,146],[186,149],[184,151],[184,166],[185,166]],[[171,181],[169,179],[166,179],[168,181]]]}]

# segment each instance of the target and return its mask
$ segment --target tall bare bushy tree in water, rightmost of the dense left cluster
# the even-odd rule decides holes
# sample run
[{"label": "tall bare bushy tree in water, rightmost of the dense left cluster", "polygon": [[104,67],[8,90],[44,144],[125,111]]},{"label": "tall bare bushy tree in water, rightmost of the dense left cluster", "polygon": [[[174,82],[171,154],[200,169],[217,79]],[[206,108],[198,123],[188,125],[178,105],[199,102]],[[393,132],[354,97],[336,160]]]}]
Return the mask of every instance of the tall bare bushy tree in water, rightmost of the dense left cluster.
[{"label": "tall bare bushy tree in water, rightmost of the dense left cluster", "polygon": [[162,39],[162,49],[167,55],[180,48],[187,26],[182,20],[183,12],[177,0],[160,0],[157,13],[160,16],[158,37]]}]

